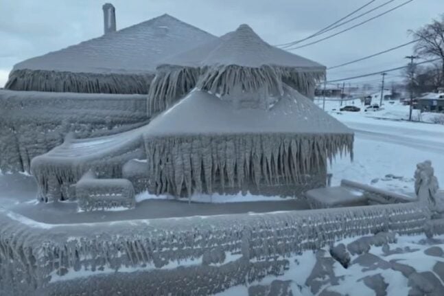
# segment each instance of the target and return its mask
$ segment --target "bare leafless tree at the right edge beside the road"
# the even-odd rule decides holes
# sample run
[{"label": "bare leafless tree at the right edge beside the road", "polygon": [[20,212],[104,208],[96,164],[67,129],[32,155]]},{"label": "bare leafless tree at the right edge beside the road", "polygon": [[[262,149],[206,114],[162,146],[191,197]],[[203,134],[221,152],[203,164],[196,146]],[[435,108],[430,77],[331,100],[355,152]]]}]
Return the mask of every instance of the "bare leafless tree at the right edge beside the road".
[{"label": "bare leafless tree at the right edge beside the road", "polygon": [[418,39],[414,45],[415,54],[427,56],[430,58],[441,58],[441,69],[439,76],[441,84],[444,86],[444,14],[441,15],[441,21],[433,20],[419,30],[409,31],[415,39]]}]

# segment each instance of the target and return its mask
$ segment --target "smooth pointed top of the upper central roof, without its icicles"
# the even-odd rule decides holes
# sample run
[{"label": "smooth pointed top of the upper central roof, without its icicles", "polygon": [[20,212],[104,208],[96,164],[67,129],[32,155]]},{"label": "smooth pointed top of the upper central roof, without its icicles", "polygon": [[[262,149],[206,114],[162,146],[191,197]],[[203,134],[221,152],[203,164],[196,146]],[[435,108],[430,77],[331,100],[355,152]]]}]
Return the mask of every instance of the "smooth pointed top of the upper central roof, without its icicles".
[{"label": "smooth pointed top of the upper central roof, without its icicles", "polygon": [[245,24],[218,40],[166,58],[162,64],[187,67],[216,65],[261,67],[270,65],[303,69],[304,71],[325,71],[325,66],[318,62],[269,45]]}]

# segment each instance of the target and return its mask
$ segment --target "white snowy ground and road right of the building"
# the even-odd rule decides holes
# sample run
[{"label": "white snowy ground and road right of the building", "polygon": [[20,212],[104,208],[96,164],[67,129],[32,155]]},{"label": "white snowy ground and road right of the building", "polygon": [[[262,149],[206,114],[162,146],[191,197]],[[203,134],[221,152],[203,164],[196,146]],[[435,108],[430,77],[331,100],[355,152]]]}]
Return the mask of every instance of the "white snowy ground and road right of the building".
[{"label": "white snowy ground and road right of the building", "polygon": [[[323,107],[322,100],[315,100]],[[339,111],[340,100],[326,100],[325,111],[355,131],[354,161],[338,158],[330,172],[332,185],[350,179],[404,194],[412,194],[416,163],[430,159],[439,183],[444,184],[444,125],[408,122],[409,106],[399,102],[384,110],[364,112],[360,100],[342,106],[360,107],[360,112]],[[414,117],[417,111],[414,111]]]}]

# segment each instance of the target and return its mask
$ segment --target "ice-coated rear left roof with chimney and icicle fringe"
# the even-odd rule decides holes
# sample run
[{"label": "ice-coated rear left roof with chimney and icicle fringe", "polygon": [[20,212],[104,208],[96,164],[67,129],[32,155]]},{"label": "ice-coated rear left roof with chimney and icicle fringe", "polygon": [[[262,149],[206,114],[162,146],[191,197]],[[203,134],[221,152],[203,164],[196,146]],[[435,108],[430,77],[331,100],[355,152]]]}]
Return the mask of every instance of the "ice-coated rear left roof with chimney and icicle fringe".
[{"label": "ice-coated rear left roof with chimney and icicle fringe", "polygon": [[103,36],[19,62],[5,89],[148,93],[159,60],[216,38],[168,14],[116,30],[113,5],[103,9]]}]

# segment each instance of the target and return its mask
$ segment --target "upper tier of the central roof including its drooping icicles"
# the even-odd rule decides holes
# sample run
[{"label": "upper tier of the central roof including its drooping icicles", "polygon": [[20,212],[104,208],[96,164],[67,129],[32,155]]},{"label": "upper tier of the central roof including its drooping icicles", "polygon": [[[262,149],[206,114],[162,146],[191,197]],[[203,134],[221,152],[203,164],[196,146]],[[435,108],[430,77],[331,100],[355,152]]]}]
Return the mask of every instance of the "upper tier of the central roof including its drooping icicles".
[{"label": "upper tier of the central roof including its drooping icicles", "polygon": [[266,91],[281,95],[282,83],[314,94],[325,66],[263,41],[248,25],[161,62],[148,95],[153,115],[197,87],[218,95]]}]

